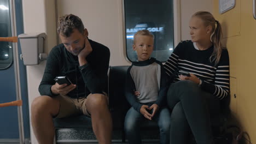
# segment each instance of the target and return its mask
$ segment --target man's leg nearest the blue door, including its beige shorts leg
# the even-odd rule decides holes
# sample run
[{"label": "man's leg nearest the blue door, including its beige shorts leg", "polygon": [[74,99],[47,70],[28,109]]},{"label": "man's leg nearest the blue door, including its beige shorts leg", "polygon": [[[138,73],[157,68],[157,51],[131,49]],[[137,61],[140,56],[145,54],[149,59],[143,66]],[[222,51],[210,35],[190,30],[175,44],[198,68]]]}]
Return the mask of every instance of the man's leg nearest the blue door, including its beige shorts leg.
[{"label": "man's leg nearest the blue door, including its beige shorts leg", "polygon": [[40,96],[34,99],[31,105],[31,121],[39,143],[54,142],[53,117],[67,117],[81,113],[74,104],[76,100],[63,95],[54,98]]}]

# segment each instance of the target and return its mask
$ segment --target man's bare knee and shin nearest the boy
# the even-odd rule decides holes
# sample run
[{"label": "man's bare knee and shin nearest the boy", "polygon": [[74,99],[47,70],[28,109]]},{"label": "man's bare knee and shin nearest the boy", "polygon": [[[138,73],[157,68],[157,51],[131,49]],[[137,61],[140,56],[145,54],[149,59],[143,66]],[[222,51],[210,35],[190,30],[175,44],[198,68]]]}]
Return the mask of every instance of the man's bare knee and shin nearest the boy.
[{"label": "man's bare knee and shin nearest the boy", "polygon": [[112,117],[108,109],[107,96],[103,94],[90,94],[85,105],[86,110],[91,115],[92,129],[98,143],[111,143]]}]

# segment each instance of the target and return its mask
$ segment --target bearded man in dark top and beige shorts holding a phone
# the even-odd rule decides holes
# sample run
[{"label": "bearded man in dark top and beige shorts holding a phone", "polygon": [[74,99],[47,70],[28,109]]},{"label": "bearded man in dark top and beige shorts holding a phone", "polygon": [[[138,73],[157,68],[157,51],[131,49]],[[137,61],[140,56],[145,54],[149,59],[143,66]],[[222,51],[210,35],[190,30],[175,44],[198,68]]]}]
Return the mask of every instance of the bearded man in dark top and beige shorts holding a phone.
[{"label": "bearded man in dark top and beige shorts holding a phone", "polygon": [[[34,99],[31,119],[39,143],[53,143],[54,117],[90,116],[98,143],[111,143],[112,118],[108,110],[108,47],[88,39],[88,31],[78,16],[59,17],[57,32],[62,44],[47,59],[39,86],[42,96]],[[56,76],[66,76],[71,85],[59,85]]]}]

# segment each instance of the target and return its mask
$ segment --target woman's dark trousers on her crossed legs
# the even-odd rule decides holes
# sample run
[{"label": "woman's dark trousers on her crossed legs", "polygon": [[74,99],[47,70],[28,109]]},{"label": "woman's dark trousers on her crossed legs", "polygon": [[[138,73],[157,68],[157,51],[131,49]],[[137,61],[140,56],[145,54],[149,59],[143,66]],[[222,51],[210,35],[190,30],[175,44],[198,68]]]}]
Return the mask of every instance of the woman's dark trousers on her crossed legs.
[{"label": "woman's dark trousers on her crossed legs", "polygon": [[193,81],[172,83],[167,92],[168,107],[172,110],[170,143],[188,143],[191,129],[197,144],[213,143],[210,115],[220,111],[219,100],[201,90]]}]

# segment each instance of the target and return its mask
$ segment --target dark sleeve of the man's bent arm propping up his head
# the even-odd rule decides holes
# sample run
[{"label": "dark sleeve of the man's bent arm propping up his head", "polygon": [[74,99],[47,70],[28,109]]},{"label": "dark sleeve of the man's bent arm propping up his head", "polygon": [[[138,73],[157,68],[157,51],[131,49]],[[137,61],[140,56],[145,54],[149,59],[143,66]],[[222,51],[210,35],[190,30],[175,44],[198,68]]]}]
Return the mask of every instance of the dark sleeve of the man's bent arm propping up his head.
[{"label": "dark sleeve of the man's bent arm propping up his head", "polygon": [[95,70],[91,68],[90,63],[79,67],[85,86],[88,87],[92,94],[103,94],[102,92],[106,91],[110,52],[107,47],[104,49],[106,51],[102,52],[101,62],[97,64]]}]

